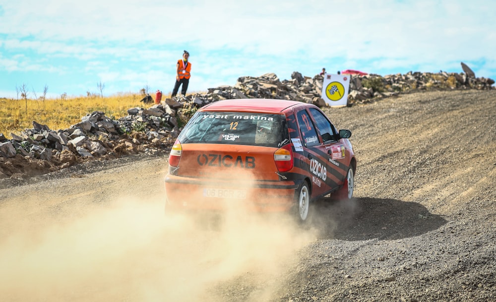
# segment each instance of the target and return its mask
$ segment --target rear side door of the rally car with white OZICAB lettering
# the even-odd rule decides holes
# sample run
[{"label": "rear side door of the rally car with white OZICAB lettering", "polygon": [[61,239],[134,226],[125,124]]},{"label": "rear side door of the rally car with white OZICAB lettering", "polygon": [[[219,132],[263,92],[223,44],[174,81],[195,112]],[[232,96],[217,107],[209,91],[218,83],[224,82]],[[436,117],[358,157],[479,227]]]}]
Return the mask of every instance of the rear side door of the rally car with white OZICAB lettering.
[{"label": "rear side door of the rally car with white OZICAB lettering", "polygon": [[327,184],[327,150],[307,109],[297,111],[296,117],[312,182],[312,197],[320,196],[330,190]]}]

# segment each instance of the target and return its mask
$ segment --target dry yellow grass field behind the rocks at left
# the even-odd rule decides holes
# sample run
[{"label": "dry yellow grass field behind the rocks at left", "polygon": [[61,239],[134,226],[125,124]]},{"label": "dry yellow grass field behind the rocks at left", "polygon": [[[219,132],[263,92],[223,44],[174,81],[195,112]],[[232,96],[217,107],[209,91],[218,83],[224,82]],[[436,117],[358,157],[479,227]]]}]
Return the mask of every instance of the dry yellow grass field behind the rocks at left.
[{"label": "dry yellow grass field behind the rocks at left", "polygon": [[[150,96],[155,99],[155,93],[150,93]],[[103,98],[95,95],[45,100],[0,98],[0,133],[11,138],[10,133],[19,134],[26,128],[32,128],[33,121],[51,129],[65,129],[93,111],[119,119],[127,115],[127,109],[143,107],[140,102],[143,97],[140,93],[126,93]],[[168,97],[170,95],[164,94],[162,100]]]}]

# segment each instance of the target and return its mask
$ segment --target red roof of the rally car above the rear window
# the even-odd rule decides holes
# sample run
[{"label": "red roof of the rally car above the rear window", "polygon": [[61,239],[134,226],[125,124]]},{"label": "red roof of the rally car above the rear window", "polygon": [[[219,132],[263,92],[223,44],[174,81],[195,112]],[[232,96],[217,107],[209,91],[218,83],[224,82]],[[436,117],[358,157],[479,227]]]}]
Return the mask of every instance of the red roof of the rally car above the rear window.
[{"label": "red roof of the rally car above the rear window", "polygon": [[273,99],[235,99],[210,103],[198,111],[248,111],[248,112],[282,112],[297,105],[309,105],[303,102]]}]

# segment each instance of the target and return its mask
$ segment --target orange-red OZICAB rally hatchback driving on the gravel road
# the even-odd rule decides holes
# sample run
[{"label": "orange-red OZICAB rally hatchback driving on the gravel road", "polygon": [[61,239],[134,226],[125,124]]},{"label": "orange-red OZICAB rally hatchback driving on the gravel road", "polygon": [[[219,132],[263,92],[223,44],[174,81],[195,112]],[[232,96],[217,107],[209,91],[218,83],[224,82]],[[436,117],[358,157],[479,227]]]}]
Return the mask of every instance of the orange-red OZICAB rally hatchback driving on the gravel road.
[{"label": "orange-red OZICAB rally hatchback driving on the gravel road", "polygon": [[200,108],[174,143],[165,177],[166,209],[293,211],[311,201],[353,196],[357,161],[351,131],[336,130],[316,106],[237,99]]}]

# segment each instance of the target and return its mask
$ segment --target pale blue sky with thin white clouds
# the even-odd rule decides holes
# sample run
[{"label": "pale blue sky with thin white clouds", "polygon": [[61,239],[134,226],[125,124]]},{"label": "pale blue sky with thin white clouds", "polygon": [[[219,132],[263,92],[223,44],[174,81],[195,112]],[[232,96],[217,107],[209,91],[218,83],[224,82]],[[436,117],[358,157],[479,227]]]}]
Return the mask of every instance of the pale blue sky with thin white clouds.
[{"label": "pale blue sky with thin white clouds", "polygon": [[493,0],[0,0],[0,98],[187,93],[241,76],[463,72],[496,79]]}]

